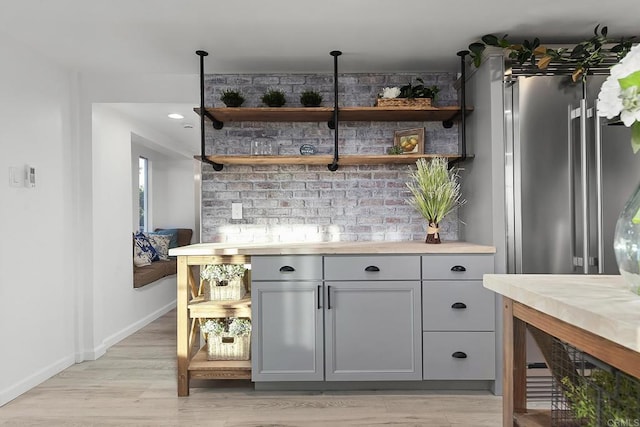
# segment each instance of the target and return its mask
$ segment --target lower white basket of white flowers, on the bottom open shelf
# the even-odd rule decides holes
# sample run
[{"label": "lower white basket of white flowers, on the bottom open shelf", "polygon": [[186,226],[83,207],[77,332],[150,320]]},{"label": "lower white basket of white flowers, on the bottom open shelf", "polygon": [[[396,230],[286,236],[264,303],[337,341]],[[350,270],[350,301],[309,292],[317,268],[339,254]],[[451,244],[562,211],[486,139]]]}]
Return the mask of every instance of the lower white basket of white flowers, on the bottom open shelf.
[{"label": "lower white basket of white flowers, on the bottom open shelf", "polygon": [[200,325],[207,340],[207,360],[249,360],[251,321],[238,317],[207,319]]}]

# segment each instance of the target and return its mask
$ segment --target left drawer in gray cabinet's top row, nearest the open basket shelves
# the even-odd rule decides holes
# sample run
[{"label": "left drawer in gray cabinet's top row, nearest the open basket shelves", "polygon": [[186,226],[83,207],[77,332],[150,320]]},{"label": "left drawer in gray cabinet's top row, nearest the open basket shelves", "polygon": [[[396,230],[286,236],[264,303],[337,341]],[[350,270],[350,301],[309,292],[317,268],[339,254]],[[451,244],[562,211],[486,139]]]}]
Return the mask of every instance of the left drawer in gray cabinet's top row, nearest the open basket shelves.
[{"label": "left drawer in gray cabinet's top row, nearest the open basket shelves", "polygon": [[251,280],[322,280],[322,256],[252,256]]}]

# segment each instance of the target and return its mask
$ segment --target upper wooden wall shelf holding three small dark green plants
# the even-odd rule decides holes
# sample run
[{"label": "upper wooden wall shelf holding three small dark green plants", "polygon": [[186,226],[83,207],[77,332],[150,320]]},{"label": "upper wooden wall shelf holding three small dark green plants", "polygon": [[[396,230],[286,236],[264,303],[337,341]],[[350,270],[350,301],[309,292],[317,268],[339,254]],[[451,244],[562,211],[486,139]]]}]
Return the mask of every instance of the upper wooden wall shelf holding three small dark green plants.
[{"label": "upper wooden wall shelf holding three small dark green plants", "polygon": [[[468,108],[467,112],[472,109]],[[194,111],[200,114],[200,108]],[[219,122],[329,122],[333,119],[330,107],[279,108],[206,108],[208,115]],[[449,121],[460,116],[460,107],[342,107],[340,121]]]}]

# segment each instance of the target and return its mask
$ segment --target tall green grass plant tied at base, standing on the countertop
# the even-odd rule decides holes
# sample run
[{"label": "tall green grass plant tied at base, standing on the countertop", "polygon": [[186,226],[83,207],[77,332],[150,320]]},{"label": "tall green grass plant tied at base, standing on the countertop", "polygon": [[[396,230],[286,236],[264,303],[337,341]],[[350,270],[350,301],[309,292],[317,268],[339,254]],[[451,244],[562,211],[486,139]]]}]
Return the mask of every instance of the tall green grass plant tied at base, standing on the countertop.
[{"label": "tall green grass plant tied at base, standing on the countertop", "polygon": [[458,169],[449,169],[443,157],[418,159],[416,166],[407,183],[412,195],[407,203],[427,220],[425,243],[440,243],[440,222],[466,202],[460,195]]}]

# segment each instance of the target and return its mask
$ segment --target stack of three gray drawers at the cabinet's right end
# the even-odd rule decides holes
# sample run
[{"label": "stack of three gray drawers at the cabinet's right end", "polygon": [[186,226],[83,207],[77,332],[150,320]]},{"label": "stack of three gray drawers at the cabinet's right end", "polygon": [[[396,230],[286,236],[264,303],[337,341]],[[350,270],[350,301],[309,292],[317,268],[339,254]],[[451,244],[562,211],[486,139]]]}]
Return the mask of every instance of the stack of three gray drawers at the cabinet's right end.
[{"label": "stack of three gray drawers at the cabinet's right end", "polygon": [[422,257],[425,380],[495,380],[493,255]]}]

